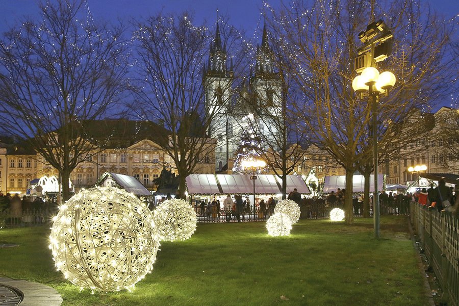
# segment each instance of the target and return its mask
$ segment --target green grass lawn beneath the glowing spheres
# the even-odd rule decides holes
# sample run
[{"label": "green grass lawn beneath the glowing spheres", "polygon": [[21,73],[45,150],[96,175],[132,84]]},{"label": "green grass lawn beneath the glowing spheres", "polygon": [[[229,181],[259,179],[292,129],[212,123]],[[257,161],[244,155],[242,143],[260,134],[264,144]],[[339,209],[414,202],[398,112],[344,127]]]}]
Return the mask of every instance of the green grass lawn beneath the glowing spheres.
[{"label": "green grass lawn beneath the glowing spheres", "polygon": [[265,223],[198,224],[191,239],[164,242],[154,270],[133,293],[95,293],[65,282],[53,267],[49,228],[0,231],[0,274],[56,288],[63,305],[425,305],[407,218],[347,226],[300,220],[289,237]]}]

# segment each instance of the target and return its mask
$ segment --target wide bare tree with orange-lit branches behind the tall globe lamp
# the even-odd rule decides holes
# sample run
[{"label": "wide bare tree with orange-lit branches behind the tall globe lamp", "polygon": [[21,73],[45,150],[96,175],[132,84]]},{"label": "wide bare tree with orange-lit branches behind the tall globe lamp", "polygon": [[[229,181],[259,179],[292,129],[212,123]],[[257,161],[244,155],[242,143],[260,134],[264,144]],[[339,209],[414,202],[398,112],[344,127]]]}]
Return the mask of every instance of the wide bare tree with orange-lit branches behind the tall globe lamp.
[{"label": "wide bare tree with orange-lit branches behind the tall globe lamp", "polygon": [[298,105],[298,113],[303,114],[308,127],[305,132],[346,170],[348,224],[353,222],[352,175],[369,159],[372,148],[368,129],[371,103],[356,98],[351,82],[353,59],[360,46],[356,40],[373,16],[396,16],[386,20],[394,34],[393,54],[378,64],[381,70],[391,70],[398,81],[377,106],[381,149],[393,150],[403,142],[399,134],[391,132],[397,122],[413,108],[427,107],[431,97],[446,90],[439,82],[447,77],[441,69],[449,35],[444,24],[433,16],[422,17],[415,1],[396,0],[388,7],[359,0],[331,4],[300,1],[270,14],[272,31],[281,37],[290,60],[287,69],[296,67],[292,75],[303,90],[305,103]]}]

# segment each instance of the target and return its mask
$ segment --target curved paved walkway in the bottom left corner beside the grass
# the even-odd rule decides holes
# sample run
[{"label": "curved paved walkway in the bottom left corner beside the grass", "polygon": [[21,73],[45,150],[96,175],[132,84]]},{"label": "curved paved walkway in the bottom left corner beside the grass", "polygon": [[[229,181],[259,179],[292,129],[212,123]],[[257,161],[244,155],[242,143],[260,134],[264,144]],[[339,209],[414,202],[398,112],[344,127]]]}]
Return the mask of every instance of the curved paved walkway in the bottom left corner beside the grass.
[{"label": "curved paved walkway in the bottom left corner beside the grass", "polygon": [[[0,277],[0,287],[6,289],[11,287],[22,293],[22,302],[19,304],[17,302],[20,300],[11,296],[9,301],[0,300],[0,305],[59,306],[62,303],[61,295],[55,289],[43,284]],[[17,302],[13,303],[14,301]]]}]

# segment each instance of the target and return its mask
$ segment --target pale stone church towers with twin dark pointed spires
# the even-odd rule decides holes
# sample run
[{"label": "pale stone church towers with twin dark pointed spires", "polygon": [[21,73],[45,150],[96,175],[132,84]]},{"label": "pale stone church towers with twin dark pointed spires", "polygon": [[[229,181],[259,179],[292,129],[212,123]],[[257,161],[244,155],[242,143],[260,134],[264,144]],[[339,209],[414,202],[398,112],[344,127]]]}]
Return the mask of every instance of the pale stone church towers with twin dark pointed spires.
[{"label": "pale stone church towers with twin dark pointed spires", "polygon": [[[228,169],[235,159],[243,131],[261,133],[269,141],[277,133],[272,115],[281,115],[282,81],[274,70],[274,52],[263,27],[261,45],[257,46],[254,72],[240,88],[234,88],[233,61],[220,37],[219,24],[210,46],[209,62],[203,71],[206,111],[213,118],[208,135],[217,139],[216,172]],[[270,115],[268,115],[269,113]],[[231,167],[231,166],[230,166]]]}]

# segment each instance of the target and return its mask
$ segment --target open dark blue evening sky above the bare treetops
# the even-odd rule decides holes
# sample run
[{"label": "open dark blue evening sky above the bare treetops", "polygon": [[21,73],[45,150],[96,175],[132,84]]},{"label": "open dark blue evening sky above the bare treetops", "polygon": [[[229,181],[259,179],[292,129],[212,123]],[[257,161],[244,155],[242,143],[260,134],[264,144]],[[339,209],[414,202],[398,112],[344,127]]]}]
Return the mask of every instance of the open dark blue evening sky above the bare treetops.
[{"label": "open dark blue evening sky above the bare treetops", "polygon": [[[278,1],[267,1],[276,6]],[[458,0],[424,0],[433,9],[444,13],[447,18],[459,13]],[[129,17],[146,17],[164,9],[166,12],[191,10],[198,23],[207,20],[212,24],[216,20],[216,10],[229,16],[230,22],[238,28],[253,34],[260,22],[261,0],[88,0],[94,18],[105,20],[129,20]],[[22,16],[38,16],[37,0],[0,0],[0,32],[5,32]]]}]

